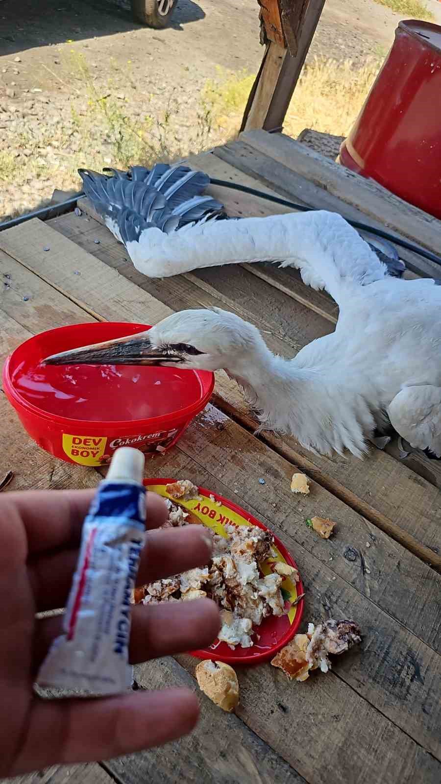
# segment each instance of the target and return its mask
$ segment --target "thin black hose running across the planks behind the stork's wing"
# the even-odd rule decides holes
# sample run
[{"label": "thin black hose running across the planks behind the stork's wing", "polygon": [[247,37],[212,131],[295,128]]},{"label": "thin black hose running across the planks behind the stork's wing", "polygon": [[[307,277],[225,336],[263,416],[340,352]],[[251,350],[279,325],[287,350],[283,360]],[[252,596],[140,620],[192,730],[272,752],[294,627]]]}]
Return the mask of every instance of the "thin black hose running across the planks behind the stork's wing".
[{"label": "thin black hose running across the planks behind the stork's wing", "polygon": [[[290,207],[291,209],[297,209],[299,212],[316,212],[316,207],[309,207],[308,205],[304,204],[296,204],[295,201],[288,201],[286,198],[281,198],[279,196],[272,196],[271,194],[264,193],[264,191],[258,191],[257,188],[250,188],[247,185],[239,185],[239,183],[230,183],[228,180],[217,180],[214,177],[210,177],[210,183],[212,185],[220,185],[223,188],[230,188],[232,191],[242,191],[242,193],[250,194],[251,196],[258,196],[259,198],[264,198],[267,201],[273,201],[275,204],[282,204],[284,207]],[[12,218],[11,220],[6,220],[5,223],[0,223],[0,231],[4,229],[10,229],[13,226],[19,226],[20,223],[24,223],[26,220],[31,220],[31,218],[45,218],[52,215],[60,215],[61,212],[64,212],[65,207],[69,207],[75,204],[75,201],[78,201],[79,198],[83,198],[86,194],[84,191],[80,191],[75,196],[71,196],[68,198],[67,201],[61,201],[60,204],[49,205],[48,207],[43,207],[42,209],[37,209],[35,212],[29,212],[27,215],[20,215],[17,218]],[[343,216],[344,217],[344,216]],[[441,267],[441,258],[436,256],[435,253],[432,253],[429,250],[425,250],[423,248],[419,248],[417,245],[414,245],[413,242],[408,242],[407,240],[403,240],[400,237],[395,237],[393,234],[389,234],[388,231],[383,231],[382,229],[376,229],[372,226],[368,226],[366,223],[359,223],[358,220],[349,220],[348,218],[344,218],[352,227],[358,229],[360,231],[366,231],[368,234],[375,234],[377,237],[381,237],[389,242],[392,242],[395,245],[400,245],[402,248],[406,248],[406,250],[410,250],[414,253],[417,253],[419,256],[423,256],[423,258],[427,259],[428,261],[432,261],[435,264],[438,264]]]}]

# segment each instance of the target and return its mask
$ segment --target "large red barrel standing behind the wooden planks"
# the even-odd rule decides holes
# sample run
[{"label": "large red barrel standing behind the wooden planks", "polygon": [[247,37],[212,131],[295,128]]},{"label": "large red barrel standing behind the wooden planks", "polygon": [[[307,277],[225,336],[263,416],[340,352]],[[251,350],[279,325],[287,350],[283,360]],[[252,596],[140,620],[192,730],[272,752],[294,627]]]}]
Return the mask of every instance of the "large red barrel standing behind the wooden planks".
[{"label": "large red barrel standing behind the wooden planks", "polygon": [[399,23],[339,160],[441,218],[441,27]]}]

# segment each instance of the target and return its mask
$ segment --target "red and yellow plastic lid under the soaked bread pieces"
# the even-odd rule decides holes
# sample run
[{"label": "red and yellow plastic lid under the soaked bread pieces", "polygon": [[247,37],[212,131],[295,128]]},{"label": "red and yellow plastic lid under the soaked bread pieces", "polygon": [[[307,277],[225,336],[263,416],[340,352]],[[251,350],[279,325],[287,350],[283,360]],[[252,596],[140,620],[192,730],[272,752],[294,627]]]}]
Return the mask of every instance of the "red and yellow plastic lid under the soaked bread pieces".
[{"label": "red and yellow plastic lid under the soaked bread pieces", "polygon": [[[166,493],[166,485],[169,485],[174,479],[146,479],[144,485],[148,487],[151,492],[156,492],[164,498],[171,498]],[[181,506],[185,506],[189,511],[199,518],[202,524],[208,528],[212,528],[216,533],[224,535],[222,528],[225,524],[233,523],[235,525],[257,525],[258,528],[268,530],[266,525],[261,523],[248,514],[240,506],[231,503],[224,499],[222,495],[217,495],[205,488],[199,488],[199,493],[202,496],[202,501],[191,500],[182,501],[179,499]],[[210,499],[210,495],[212,498]],[[212,500],[214,498],[214,501]],[[221,505],[219,505],[220,502]],[[274,535],[274,534],[273,534]],[[261,564],[261,570],[264,575],[268,575],[271,569],[271,563],[275,561],[282,561],[290,566],[294,566],[297,571],[297,564],[293,560],[291,554],[286,550],[277,536],[274,536],[274,546],[272,548],[272,555]],[[269,618],[264,619],[261,626],[257,627],[257,636],[254,635],[253,639],[256,641],[252,648],[235,648],[231,650],[224,642],[215,640],[210,648],[205,648],[201,651],[192,651],[191,655],[197,656],[199,659],[213,659],[228,664],[257,664],[264,661],[264,659],[272,658],[280,648],[283,648],[297,632],[300,626],[301,616],[303,614],[303,599],[299,601],[294,607],[293,602],[296,601],[297,596],[303,593],[303,586],[301,581],[294,583],[293,580],[288,578],[283,580],[282,583],[283,595],[286,598],[285,607],[288,611],[286,615],[275,617],[270,615]]]}]

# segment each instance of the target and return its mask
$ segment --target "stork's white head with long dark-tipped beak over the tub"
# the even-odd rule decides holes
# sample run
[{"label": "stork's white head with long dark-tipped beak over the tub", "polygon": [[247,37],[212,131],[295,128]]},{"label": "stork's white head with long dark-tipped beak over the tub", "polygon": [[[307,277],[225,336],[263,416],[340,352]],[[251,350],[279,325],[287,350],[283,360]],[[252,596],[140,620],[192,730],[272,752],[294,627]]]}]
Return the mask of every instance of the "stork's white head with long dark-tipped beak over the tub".
[{"label": "stork's white head with long dark-tipped beak over the tub", "polygon": [[179,365],[219,370],[252,361],[264,340],[227,310],[181,310],[146,332],[46,358],[49,365]]}]

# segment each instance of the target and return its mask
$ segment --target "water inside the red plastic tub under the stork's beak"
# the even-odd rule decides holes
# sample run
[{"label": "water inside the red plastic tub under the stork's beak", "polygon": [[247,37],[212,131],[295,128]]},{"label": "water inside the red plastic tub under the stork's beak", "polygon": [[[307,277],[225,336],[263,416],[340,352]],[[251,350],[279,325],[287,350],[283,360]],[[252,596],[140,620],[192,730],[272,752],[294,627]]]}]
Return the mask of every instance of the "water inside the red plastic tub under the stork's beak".
[{"label": "water inside the red plastic tub under the stork's beak", "polygon": [[192,370],[134,365],[44,365],[22,361],[13,385],[25,401],[67,419],[127,422],[186,408],[202,394]]}]

